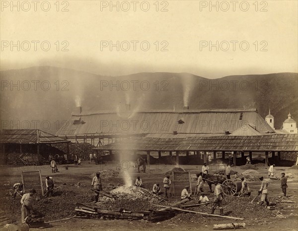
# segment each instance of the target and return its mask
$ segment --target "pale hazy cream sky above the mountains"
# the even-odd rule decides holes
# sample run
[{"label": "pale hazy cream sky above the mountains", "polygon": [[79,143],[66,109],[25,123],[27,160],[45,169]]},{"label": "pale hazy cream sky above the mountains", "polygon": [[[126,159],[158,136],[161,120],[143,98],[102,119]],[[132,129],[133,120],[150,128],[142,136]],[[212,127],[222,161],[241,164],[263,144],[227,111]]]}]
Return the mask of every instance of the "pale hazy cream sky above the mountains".
[{"label": "pale hazy cream sky above the mountains", "polygon": [[50,65],[209,78],[298,72],[296,0],[212,1],[211,8],[199,0],[110,3],[14,1],[11,8],[1,1],[1,70]]}]

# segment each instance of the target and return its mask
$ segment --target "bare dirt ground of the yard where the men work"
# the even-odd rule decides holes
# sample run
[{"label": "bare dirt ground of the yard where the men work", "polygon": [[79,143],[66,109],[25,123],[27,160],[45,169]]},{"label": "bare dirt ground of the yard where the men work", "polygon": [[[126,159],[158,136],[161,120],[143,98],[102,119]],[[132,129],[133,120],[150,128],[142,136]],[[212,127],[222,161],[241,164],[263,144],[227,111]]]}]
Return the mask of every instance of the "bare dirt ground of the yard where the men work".
[{"label": "bare dirt ground of the yard where the men work", "polygon": [[[68,166],[68,170],[66,170],[65,166]],[[101,164],[95,165],[94,162],[88,163],[88,161],[83,161],[81,166],[72,165],[60,165],[59,172],[52,173],[51,168],[49,166],[23,166],[23,167],[12,167],[12,166],[1,166],[0,167],[0,209],[7,212],[7,216],[11,216],[11,199],[9,198],[9,190],[15,182],[21,181],[21,171],[32,171],[32,170],[41,170],[42,179],[44,181],[45,176],[53,176],[55,185],[55,191],[57,192],[54,197],[50,199],[42,200],[43,203],[37,202],[37,205],[40,207],[35,207],[38,210],[41,210],[46,215],[46,219],[53,221],[62,218],[68,218],[75,215],[74,207],[76,202],[91,202],[92,201],[92,192],[91,188],[91,175],[97,170],[103,171],[104,169],[112,169],[117,170],[118,165],[116,164]],[[171,170],[174,165],[151,165],[148,167],[147,173],[137,173],[136,169],[133,166],[130,167],[130,171],[132,172],[132,179],[136,179],[138,175],[141,176],[145,188],[151,190],[151,187],[154,183],[159,182],[162,186],[162,180],[164,178],[164,173]],[[202,168],[202,165],[180,165],[179,167],[184,168],[186,171],[191,171],[191,173],[198,173]],[[211,171],[215,172],[220,169],[220,166],[211,165]],[[267,177],[268,171],[265,167],[258,166],[258,171],[264,176]],[[240,169],[239,166],[232,167],[233,170],[241,173],[245,171],[245,169]],[[248,211],[250,208],[247,203],[252,200],[252,198],[257,195],[257,191],[259,190],[260,181],[250,181],[249,187],[252,191],[252,195],[250,198],[234,198],[230,197],[225,199],[224,203],[224,212],[228,213],[229,216],[235,216],[232,213],[233,209],[230,209],[229,203],[231,200],[237,200],[237,209],[241,210],[239,212],[239,216],[244,218],[243,221],[231,220],[226,218],[216,218],[216,217],[208,217],[197,214],[190,213],[180,213],[176,215],[174,218],[159,222],[159,223],[150,223],[148,221],[127,221],[127,220],[87,220],[87,219],[71,219],[63,222],[52,223],[50,228],[46,228],[47,231],[96,231],[96,230],[105,230],[105,231],[118,231],[122,230],[171,230],[171,231],[180,231],[180,230],[198,230],[204,229],[205,231],[213,230],[214,224],[226,224],[226,223],[235,223],[235,222],[245,222],[247,230],[284,230],[284,231],[297,231],[298,230],[298,170],[290,169],[289,167],[276,167],[278,172],[285,171],[286,173],[292,173],[294,178],[288,179],[288,189],[287,194],[289,198],[287,200],[296,201],[295,204],[288,203],[278,203],[278,207],[283,207],[279,210],[269,211],[266,210],[265,207],[255,207],[257,208],[257,212],[262,214],[262,209],[264,210],[264,216],[259,216],[254,218],[251,216],[251,213],[254,211]],[[231,177],[233,179],[233,176]],[[77,187],[77,183],[80,182],[80,186]],[[112,188],[123,185],[123,180],[120,176],[106,176],[102,179],[102,184],[104,190],[110,191]],[[196,182],[192,182],[192,187],[194,187]],[[208,190],[208,185],[204,186],[205,191]],[[214,189],[214,186],[213,186]],[[59,191],[63,191],[70,198],[70,200],[59,201]],[[180,194],[178,192],[177,194]],[[282,190],[280,188],[280,180],[271,180],[269,184],[269,200],[271,202],[277,202],[282,200]],[[210,195],[210,198],[213,198],[213,195]],[[20,198],[18,198],[20,199]],[[196,199],[196,198],[195,198]],[[259,199],[259,198],[258,198]],[[255,203],[257,203],[258,199]],[[176,195],[174,198],[170,198],[170,201],[179,200],[179,195]],[[18,203],[14,208],[13,216],[17,221],[20,220],[20,206]],[[42,205],[42,206],[41,206]],[[256,204],[255,204],[256,205]],[[55,207],[56,206],[56,207]],[[205,207],[205,206],[204,206]],[[51,208],[51,209],[49,209]],[[53,213],[52,209],[55,208],[57,213]],[[195,211],[209,211],[211,206],[205,207],[204,209],[194,209]],[[243,210],[243,211],[242,211]],[[51,213],[47,212],[51,211]],[[247,213],[247,217],[243,216]],[[231,213],[231,214],[230,214]],[[216,210],[215,214],[219,214],[219,209]],[[241,215],[241,216],[240,216]],[[30,230],[35,231],[38,229],[31,228]]]}]

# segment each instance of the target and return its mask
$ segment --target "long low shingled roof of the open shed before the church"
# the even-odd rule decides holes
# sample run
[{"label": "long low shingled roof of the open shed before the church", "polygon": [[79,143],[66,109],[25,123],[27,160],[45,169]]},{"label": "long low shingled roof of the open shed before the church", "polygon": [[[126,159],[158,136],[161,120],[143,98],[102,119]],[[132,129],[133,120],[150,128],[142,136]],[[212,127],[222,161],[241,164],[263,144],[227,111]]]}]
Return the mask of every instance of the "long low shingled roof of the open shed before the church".
[{"label": "long low shingled roof of the open shed before the church", "polygon": [[218,136],[181,139],[130,138],[105,145],[102,151],[298,151],[298,134]]}]

